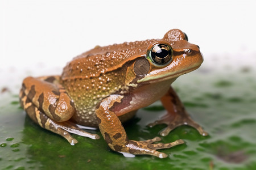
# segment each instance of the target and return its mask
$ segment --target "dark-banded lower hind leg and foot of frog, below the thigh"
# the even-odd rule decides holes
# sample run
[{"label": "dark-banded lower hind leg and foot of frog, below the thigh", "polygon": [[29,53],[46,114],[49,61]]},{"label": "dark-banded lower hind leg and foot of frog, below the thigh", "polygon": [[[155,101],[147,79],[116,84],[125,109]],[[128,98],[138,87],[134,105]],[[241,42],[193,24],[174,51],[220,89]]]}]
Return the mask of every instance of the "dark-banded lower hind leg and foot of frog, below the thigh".
[{"label": "dark-banded lower hind leg and foot of frog, below the thigh", "polygon": [[89,137],[92,139],[99,139],[100,137],[97,134],[91,134],[86,131],[81,130],[76,126],[76,124],[73,124],[70,121],[65,122],[56,122],[51,120],[46,114],[39,111],[39,109],[32,103],[30,99],[24,94],[23,90],[20,90],[20,105],[22,108],[27,112],[28,116],[36,122],[39,126],[41,126],[44,129],[50,130],[53,133],[59,134],[71,145],[75,145],[78,141],[71,136],[70,133],[74,133],[77,135],[81,135],[83,137]]}]

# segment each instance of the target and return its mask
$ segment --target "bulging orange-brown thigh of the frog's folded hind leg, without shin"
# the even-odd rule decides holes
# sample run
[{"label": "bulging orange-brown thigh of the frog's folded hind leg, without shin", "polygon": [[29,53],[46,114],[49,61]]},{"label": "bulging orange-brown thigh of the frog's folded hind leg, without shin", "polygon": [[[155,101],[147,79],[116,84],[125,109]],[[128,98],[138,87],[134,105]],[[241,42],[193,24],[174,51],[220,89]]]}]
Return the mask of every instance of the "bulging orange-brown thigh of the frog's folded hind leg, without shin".
[{"label": "bulging orange-brown thigh of the frog's folded hind leg, without shin", "polygon": [[59,76],[27,77],[23,80],[22,90],[35,107],[52,120],[67,121],[75,112],[71,98],[59,84]]}]

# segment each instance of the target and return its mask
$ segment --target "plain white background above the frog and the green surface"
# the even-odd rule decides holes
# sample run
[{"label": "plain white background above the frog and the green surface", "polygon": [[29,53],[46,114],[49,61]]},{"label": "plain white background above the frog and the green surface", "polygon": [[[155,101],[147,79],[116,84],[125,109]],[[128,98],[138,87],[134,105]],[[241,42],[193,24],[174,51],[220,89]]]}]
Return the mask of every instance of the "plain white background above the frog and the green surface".
[{"label": "plain white background above the frog and the green surface", "polygon": [[[256,54],[256,1],[20,1],[0,4],[0,72],[61,68],[96,45],[179,28],[205,61]],[[255,60],[254,60],[255,61]],[[250,61],[249,61],[250,62]],[[31,73],[32,74],[32,73]]]}]

